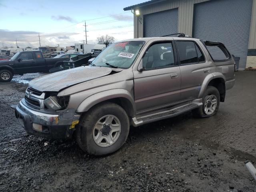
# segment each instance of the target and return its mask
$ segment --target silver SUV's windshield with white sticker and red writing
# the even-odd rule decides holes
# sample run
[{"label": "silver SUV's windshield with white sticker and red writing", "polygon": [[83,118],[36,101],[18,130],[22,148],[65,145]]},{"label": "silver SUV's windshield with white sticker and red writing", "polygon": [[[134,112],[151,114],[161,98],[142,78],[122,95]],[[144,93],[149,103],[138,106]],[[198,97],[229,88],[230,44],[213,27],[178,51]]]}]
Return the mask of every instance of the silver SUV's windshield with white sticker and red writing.
[{"label": "silver SUV's windshield with white sticker and red writing", "polygon": [[144,41],[129,41],[111,44],[93,60],[92,65],[129,68],[144,43]]}]

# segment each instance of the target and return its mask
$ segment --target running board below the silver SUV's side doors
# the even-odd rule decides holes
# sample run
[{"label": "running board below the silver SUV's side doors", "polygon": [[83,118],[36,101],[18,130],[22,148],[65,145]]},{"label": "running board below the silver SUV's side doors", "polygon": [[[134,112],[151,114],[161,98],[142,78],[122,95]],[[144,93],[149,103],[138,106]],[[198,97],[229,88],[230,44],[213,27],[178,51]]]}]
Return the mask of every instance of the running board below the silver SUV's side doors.
[{"label": "running board below the silver SUV's side doors", "polygon": [[132,118],[132,125],[134,127],[140,126],[142,124],[171,118],[177,115],[180,115],[184,112],[190,111],[192,109],[196,109],[202,106],[202,103],[190,103],[190,104],[183,104],[182,106],[174,106],[170,108],[165,108],[153,112],[148,112],[145,114],[140,114]]}]

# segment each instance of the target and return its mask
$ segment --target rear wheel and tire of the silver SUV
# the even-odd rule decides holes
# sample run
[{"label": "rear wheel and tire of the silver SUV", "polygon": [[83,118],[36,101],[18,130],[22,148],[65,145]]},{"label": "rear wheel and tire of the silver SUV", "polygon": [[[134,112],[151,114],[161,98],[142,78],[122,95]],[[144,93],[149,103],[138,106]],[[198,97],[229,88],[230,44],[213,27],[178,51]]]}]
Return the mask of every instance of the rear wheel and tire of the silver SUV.
[{"label": "rear wheel and tire of the silver SUV", "polygon": [[[214,116],[220,106],[220,93],[214,86],[208,86],[202,97],[203,105],[192,112],[195,117],[205,118]],[[214,102],[216,101],[216,104]]]}]

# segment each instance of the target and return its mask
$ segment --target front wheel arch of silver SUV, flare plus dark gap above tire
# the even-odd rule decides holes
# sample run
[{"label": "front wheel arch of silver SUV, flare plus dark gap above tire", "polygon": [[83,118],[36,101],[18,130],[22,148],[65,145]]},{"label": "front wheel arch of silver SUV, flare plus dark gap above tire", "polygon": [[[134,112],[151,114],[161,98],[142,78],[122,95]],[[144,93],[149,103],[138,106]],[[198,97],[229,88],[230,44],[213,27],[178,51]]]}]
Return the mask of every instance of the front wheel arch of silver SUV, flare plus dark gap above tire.
[{"label": "front wheel arch of silver SUV, flare plus dark gap above tire", "polygon": [[107,90],[93,94],[78,106],[76,112],[87,112],[93,106],[103,102],[112,102],[120,105],[130,117],[135,116],[136,108],[132,95],[124,89]]}]

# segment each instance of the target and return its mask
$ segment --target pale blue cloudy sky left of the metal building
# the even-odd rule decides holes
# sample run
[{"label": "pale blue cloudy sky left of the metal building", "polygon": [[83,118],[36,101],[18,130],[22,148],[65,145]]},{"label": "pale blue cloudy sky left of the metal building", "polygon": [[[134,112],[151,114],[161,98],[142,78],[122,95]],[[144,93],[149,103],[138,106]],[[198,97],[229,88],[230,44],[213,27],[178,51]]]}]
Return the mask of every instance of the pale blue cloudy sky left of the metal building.
[{"label": "pale blue cloudy sky left of the metal building", "polygon": [[133,38],[133,14],[123,8],[146,0],[0,0],[0,48],[71,46],[110,35]]}]

